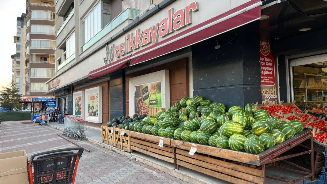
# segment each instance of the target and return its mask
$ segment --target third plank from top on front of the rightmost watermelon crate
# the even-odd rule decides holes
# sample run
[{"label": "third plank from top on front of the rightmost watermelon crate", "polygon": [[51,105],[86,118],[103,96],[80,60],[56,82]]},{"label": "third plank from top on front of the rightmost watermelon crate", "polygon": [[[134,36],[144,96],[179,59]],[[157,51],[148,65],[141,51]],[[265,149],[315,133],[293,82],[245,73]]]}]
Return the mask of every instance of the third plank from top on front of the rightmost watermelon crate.
[{"label": "third plank from top on front of the rightmost watermelon crate", "polygon": [[182,156],[182,155],[177,155],[177,159],[178,160],[183,160],[183,161],[186,161],[186,162],[189,162],[189,163],[201,166],[201,167],[205,167],[205,168],[208,168],[210,170],[215,170],[215,171],[218,171],[218,172],[221,172],[221,173],[225,173],[225,174],[228,174],[228,175],[231,175],[231,176],[235,176],[235,177],[238,177],[238,178],[241,178],[241,179],[245,179],[245,180],[248,180],[248,181],[251,181],[251,182],[254,182],[254,183],[264,184],[264,178],[263,177],[249,175],[249,174],[246,174],[246,173],[242,173],[242,172],[239,172],[239,171],[235,171],[235,170],[232,170],[232,169],[221,167],[221,166],[212,164],[210,162],[204,162],[204,161],[201,161],[201,160],[192,159],[192,158],[185,157],[185,156]]}]

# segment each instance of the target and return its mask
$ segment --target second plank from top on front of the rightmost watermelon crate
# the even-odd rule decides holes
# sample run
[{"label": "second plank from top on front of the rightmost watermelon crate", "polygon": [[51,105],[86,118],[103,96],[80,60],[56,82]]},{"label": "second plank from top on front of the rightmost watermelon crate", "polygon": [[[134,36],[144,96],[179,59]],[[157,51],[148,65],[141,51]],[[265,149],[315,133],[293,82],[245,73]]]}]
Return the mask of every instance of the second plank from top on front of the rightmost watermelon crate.
[{"label": "second plank from top on front of the rightmost watermelon crate", "polygon": [[221,166],[221,167],[229,168],[229,169],[232,169],[232,170],[235,170],[235,171],[247,173],[247,174],[254,175],[254,176],[264,177],[264,172],[262,170],[254,169],[254,168],[251,168],[251,167],[245,167],[245,166],[242,166],[242,165],[233,164],[233,163],[230,163],[230,162],[226,162],[226,161],[222,161],[222,160],[218,160],[218,159],[214,159],[214,158],[210,158],[210,157],[205,157],[205,156],[198,155],[198,154],[194,154],[192,156],[192,155],[188,154],[188,151],[184,151],[184,150],[181,150],[181,149],[176,149],[176,153],[180,154],[180,155],[187,156],[187,157],[191,157],[193,159],[209,162],[209,163]]}]

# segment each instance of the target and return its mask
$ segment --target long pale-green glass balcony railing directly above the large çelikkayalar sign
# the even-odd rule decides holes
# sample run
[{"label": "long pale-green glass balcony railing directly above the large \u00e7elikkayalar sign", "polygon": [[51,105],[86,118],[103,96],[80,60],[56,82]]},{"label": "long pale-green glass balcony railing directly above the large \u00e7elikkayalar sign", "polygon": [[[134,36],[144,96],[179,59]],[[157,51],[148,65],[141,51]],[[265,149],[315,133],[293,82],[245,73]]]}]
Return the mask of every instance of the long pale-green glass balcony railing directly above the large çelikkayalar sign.
[{"label": "long pale-green glass balcony railing directly above the large \u00e7elikkayalar sign", "polygon": [[114,28],[116,28],[118,25],[125,22],[127,19],[134,19],[138,14],[140,13],[140,10],[133,9],[133,8],[127,8],[125,11],[121,12],[116,18],[114,18],[108,25],[106,25],[104,28],[102,28],[94,37],[92,37],[89,41],[87,41],[81,48],[82,52],[91,47],[93,44],[95,44],[97,41],[99,41],[101,38],[109,34]]}]

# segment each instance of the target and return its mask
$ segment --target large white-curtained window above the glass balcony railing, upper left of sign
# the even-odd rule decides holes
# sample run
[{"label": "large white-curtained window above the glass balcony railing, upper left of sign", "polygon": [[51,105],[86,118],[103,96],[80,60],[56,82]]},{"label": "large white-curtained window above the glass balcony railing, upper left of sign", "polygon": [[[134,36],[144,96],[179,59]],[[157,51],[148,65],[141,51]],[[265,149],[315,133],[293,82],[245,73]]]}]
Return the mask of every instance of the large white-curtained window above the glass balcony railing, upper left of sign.
[{"label": "large white-curtained window above the glass balcony railing, upper left of sign", "polygon": [[92,37],[101,30],[101,6],[100,2],[82,21],[82,41],[88,42]]}]

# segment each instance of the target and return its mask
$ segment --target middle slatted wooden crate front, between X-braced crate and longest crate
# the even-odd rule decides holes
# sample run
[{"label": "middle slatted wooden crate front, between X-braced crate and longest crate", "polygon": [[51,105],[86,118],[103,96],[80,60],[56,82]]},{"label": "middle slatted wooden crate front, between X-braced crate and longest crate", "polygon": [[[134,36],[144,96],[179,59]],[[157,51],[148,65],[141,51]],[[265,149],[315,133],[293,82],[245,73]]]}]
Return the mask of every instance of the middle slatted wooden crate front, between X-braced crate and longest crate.
[{"label": "middle slatted wooden crate front, between X-braced crate and longest crate", "polygon": [[158,136],[148,135],[139,132],[128,131],[130,136],[130,147],[132,151],[137,151],[169,163],[176,163],[175,148],[170,145],[170,139],[163,138],[163,147],[160,147]]}]

